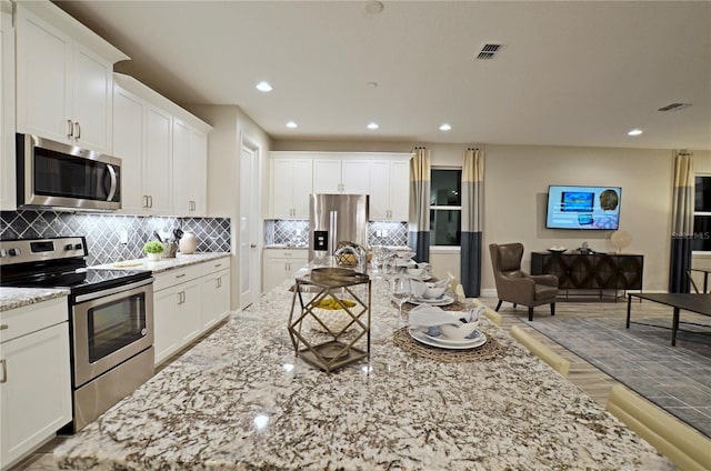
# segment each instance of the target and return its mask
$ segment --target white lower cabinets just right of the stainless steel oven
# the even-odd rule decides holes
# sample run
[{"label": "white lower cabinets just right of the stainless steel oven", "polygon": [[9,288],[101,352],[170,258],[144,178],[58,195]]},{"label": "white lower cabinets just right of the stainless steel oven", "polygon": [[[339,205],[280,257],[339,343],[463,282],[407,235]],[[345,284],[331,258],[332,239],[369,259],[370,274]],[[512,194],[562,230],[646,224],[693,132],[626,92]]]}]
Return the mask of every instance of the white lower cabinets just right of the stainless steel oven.
[{"label": "white lower cabinets just right of the stainless steel oven", "polygon": [[229,258],[222,258],[153,274],[156,364],[229,313]]}]

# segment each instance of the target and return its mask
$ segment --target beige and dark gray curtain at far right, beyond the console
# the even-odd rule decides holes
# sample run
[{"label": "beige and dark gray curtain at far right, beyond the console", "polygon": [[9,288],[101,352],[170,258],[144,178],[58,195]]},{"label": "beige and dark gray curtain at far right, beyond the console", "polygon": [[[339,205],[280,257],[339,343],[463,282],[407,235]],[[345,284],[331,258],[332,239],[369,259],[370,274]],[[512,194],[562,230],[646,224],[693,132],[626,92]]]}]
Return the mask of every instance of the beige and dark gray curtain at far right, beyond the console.
[{"label": "beige and dark gray curtain at far right, beyond the console", "polygon": [[694,173],[691,153],[679,151],[674,161],[669,292],[688,293],[693,240]]}]

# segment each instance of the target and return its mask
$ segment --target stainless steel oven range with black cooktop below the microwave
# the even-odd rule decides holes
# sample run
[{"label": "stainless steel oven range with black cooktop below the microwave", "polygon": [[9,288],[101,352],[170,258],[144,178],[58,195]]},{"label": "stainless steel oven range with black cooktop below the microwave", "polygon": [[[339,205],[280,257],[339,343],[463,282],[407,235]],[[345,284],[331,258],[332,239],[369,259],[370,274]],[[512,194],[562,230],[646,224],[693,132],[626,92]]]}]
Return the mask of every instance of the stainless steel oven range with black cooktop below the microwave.
[{"label": "stainless steel oven range with black cooktop below the microwave", "polygon": [[154,371],[152,273],[90,269],[87,254],[82,237],[0,241],[0,285],[70,290],[68,431],[82,429]]}]

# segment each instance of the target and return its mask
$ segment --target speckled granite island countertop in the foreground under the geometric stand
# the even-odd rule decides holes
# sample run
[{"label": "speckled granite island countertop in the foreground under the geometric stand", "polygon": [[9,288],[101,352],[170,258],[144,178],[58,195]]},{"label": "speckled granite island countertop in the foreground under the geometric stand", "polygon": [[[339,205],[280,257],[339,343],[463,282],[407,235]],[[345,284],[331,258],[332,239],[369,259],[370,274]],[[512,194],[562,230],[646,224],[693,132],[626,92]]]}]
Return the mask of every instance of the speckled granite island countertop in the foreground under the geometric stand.
[{"label": "speckled granite island countertop in the foreground under the geometric stand", "polygon": [[327,374],[294,357],[288,283],[54,452],[93,470],[672,470],[583,392],[482,330],[494,359],[435,363],[393,344],[373,283],[370,361]]}]

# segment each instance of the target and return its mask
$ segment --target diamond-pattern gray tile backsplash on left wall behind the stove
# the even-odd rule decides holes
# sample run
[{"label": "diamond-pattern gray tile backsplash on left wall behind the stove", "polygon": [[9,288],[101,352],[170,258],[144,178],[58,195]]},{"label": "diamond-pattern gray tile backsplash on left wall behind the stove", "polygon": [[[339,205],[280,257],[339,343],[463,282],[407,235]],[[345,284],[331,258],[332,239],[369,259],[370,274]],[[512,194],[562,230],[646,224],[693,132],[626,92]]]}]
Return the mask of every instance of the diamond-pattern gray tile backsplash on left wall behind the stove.
[{"label": "diamond-pattern gray tile backsplash on left wall behind the stove", "polygon": [[[143,244],[154,239],[153,231],[172,238],[181,228],[194,232],[199,252],[229,252],[230,220],[224,218],[142,217],[108,213],[58,211],[1,211],[0,239],[37,239],[84,236],[89,265],[146,257]],[[128,242],[121,243],[126,232]]]}]

